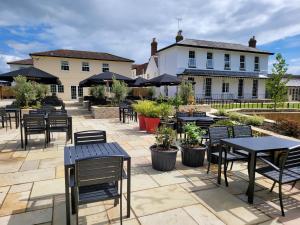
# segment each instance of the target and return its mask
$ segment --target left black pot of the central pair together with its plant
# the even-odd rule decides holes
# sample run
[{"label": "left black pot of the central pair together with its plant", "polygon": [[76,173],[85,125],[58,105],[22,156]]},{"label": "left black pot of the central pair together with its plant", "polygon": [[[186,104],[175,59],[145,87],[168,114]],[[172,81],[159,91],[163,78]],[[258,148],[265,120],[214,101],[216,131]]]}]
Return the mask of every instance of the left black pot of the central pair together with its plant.
[{"label": "left black pot of the central pair together with its plant", "polygon": [[152,168],[159,171],[173,170],[178,148],[173,145],[176,133],[173,129],[162,126],[156,131],[156,144],[150,147]]}]

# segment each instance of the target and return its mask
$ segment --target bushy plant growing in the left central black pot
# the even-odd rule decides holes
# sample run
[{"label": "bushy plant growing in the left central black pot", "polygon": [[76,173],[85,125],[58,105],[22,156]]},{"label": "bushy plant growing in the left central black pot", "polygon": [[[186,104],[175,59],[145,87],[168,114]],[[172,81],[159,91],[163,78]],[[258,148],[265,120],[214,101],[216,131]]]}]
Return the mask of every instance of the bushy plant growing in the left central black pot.
[{"label": "bushy plant growing in the left central black pot", "polygon": [[162,126],[156,130],[156,144],[163,150],[169,150],[176,139],[176,132],[169,127]]}]

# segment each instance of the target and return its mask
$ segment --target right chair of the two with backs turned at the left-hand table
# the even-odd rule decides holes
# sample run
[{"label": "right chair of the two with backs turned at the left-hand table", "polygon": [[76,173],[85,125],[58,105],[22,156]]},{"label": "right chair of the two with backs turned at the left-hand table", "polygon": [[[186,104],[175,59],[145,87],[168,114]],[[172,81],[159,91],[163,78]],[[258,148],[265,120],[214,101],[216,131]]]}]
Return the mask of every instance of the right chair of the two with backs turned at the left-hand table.
[{"label": "right chair of the two with backs turned at the left-hand table", "polygon": [[[66,142],[68,141],[69,137],[69,122],[68,122],[68,115],[67,114],[56,114],[56,113],[49,113],[47,118],[47,137],[48,142],[51,141],[50,135],[54,132],[63,132],[66,133]],[[71,142],[73,138],[71,135]]]}]

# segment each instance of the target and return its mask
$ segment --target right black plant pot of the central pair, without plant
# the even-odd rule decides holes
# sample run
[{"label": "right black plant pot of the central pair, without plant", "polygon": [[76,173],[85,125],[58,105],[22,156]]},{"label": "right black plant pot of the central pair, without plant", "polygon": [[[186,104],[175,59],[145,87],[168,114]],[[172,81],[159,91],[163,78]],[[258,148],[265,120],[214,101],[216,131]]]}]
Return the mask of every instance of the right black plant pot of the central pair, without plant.
[{"label": "right black plant pot of the central pair, without plant", "polygon": [[187,146],[181,146],[182,164],[190,167],[203,166],[205,152],[205,146],[200,146],[197,148],[188,148]]}]

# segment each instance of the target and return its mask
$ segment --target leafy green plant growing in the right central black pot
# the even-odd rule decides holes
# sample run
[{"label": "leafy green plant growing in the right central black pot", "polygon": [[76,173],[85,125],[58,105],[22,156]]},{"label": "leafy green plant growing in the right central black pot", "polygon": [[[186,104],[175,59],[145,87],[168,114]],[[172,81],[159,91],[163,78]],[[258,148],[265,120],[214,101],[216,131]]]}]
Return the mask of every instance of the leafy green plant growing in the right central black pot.
[{"label": "leafy green plant growing in the right central black pot", "polygon": [[189,148],[199,146],[201,144],[201,137],[205,134],[204,130],[201,130],[196,123],[187,123],[183,127],[185,139],[182,142]]}]

